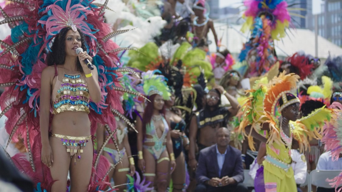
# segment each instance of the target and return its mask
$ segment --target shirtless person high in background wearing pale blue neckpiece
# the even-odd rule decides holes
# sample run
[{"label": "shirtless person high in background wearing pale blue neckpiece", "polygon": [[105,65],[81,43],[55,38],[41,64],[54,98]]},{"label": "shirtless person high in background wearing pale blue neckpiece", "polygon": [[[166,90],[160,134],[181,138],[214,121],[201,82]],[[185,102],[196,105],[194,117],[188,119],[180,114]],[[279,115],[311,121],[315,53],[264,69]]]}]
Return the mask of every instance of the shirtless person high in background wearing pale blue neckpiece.
[{"label": "shirtless person high in background wearing pale blue neckpiece", "polygon": [[208,33],[209,29],[213,32],[215,43],[216,43],[216,51],[219,51],[219,42],[215,32],[214,23],[208,16],[204,15],[204,5],[199,3],[193,7],[195,12],[195,18],[193,21],[193,32],[195,35],[195,43],[197,47],[201,47],[201,49],[208,49]]}]

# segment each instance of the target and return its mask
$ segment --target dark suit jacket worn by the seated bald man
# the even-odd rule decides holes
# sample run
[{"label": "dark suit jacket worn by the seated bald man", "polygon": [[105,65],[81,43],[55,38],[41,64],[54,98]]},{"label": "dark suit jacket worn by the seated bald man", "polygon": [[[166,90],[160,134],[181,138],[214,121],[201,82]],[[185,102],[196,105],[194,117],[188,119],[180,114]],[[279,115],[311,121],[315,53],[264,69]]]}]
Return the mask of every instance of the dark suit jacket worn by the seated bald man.
[{"label": "dark suit jacket worn by the seated bald man", "polygon": [[202,149],[199,153],[196,171],[197,183],[201,184],[213,177],[222,178],[224,176],[232,177],[238,183],[244,181],[241,151],[228,145],[220,177],[216,144]]}]

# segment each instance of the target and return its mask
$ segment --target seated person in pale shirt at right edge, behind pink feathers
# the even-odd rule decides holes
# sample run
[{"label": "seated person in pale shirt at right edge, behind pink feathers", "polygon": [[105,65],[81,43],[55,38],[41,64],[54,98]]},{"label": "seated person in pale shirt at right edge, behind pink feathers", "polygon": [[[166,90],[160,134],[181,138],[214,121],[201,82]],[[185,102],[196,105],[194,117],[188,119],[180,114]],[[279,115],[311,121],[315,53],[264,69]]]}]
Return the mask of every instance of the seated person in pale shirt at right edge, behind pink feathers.
[{"label": "seated person in pale shirt at right edge, behind pink feathers", "polygon": [[[332,161],[330,151],[321,154],[317,163],[317,170],[342,170],[342,154],[337,161]],[[318,187],[317,192],[334,192],[335,189]]]}]

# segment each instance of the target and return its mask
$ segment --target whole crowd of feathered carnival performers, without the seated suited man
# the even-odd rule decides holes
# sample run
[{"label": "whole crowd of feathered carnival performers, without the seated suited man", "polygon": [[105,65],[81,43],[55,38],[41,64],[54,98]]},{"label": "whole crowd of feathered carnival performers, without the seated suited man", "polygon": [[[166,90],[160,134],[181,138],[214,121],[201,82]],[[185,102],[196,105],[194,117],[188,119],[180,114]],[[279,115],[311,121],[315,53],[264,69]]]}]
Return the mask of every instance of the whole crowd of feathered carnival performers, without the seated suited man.
[{"label": "whole crowd of feathered carnival performers, without the seated suited man", "polygon": [[[204,0],[112,3],[119,13],[108,0],[1,5],[0,24],[11,28],[0,41],[1,182],[22,191],[193,191],[199,151],[221,127],[244,168],[259,164],[255,191],[297,191],[291,149],[308,170],[324,150],[338,159],[342,56],[277,58],[274,41],[291,30],[286,1],[244,1],[242,30],[251,34],[236,59]],[[108,12],[120,16],[109,24]],[[120,47],[120,36],[138,40]]]}]

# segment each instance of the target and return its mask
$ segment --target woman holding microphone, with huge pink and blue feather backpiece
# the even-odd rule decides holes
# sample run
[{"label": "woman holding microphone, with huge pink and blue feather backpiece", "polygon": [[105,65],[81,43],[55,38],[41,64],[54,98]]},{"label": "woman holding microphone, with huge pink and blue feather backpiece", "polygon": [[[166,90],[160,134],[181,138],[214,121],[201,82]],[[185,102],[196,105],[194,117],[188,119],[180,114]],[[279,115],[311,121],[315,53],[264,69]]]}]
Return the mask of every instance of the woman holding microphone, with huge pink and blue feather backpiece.
[{"label": "woman holding microphone, with huge pink and blue feather backpiece", "polygon": [[26,136],[29,160],[23,154],[12,160],[38,191],[66,191],[68,172],[71,191],[106,188],[110,165],[102,149],[93,153],[91,142],[96,123],[112,127],[104,143],[114,140],[114,115],[128,122],[119,92],[140,95],[117,80],[121,71],[131,71],[116,65],[116,52],[127,48],[118,50],[109,39],[125,31],[111,32],[103,23],[106,5],[91,3],[29,0],[1,9],[1,24],[8,23],[12,34],[0,41],[0,86],[8,87],[0,116],[8,116],[9,142]]}]

